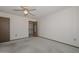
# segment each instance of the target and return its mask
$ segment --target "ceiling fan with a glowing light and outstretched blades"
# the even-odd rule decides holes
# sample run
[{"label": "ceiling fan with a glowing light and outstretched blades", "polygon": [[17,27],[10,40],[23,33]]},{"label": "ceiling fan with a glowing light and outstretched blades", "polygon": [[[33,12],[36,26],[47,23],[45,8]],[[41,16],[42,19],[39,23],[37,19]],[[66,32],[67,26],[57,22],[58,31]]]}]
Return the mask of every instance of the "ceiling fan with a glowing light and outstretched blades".
[{"label": "ceiling fan with a glowing light and outstretched blades", "polygon": [[25,17],[26,17],[27,15],[35,16],[34,14],[31,13],[31,11],[35,11],[36,9],[31,9],[31,8],[28,7],[28,6],[20,6],[20,7],[21,7],[21,9],[14,9],[14,11],[23,11]]}]

